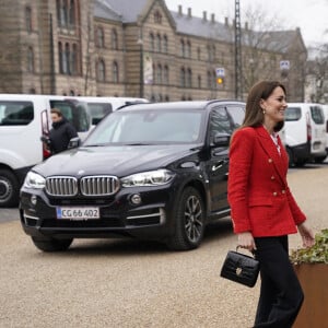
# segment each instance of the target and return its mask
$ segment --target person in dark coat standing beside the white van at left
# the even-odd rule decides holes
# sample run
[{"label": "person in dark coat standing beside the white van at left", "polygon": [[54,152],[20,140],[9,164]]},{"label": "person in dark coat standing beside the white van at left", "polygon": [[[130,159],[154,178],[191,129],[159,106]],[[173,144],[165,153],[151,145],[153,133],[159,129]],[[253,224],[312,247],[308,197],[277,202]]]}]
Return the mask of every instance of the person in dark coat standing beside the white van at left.
[{"label": "person in dark coat standing beside the white van at left", "polygon": [[52,120],[52,128],[49,132],[50,150],[52,154],[57,154],[67,150],[70,140],[78,137],[78,132],[73,125],[62,116],[60,109],[52,108],[50,113]]}]

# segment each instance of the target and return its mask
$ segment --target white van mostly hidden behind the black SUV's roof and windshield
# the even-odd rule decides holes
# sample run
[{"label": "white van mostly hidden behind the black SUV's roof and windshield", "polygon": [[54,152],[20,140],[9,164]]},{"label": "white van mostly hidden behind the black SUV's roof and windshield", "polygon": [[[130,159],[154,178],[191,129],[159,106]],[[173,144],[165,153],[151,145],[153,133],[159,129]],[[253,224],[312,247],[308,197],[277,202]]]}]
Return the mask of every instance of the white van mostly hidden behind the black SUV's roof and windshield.
[{"label": "white van mostly hidden behind the black SUV's roof and windshield", "polygon": [[134,97],[92,97],[92,96],[78,96],[75,97],[85,102],[89,107],[89,113],[92,117],[92,126],[96,126],[104,116],[117,108],[136,103],[149,103],[145,98]]}]

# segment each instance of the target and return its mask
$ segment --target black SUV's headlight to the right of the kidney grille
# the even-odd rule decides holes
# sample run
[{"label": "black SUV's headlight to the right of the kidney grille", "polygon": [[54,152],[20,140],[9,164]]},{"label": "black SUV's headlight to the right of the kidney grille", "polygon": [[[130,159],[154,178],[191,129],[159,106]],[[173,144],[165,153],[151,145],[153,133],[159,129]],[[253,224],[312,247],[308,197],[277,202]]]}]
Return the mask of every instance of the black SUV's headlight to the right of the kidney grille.
[{"label": "black SUV's headlight to the right of the kidney grille", "polygon": [[174,173],[168,169],[157,169],[129,175],[121,179],[122,187],[161,186],[169,183]]}]

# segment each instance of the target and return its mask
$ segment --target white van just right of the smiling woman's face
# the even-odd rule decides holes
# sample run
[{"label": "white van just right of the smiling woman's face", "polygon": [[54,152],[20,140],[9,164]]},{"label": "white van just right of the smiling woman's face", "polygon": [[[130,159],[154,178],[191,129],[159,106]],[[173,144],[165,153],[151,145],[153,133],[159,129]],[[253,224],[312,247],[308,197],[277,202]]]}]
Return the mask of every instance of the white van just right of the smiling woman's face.
[{"label": "white van just right of the smiling woman's face", "polygon": [[327,157],[326,121],[320,104],[289,103],[285,110],[285,145],[290,165],[302,166]]}]

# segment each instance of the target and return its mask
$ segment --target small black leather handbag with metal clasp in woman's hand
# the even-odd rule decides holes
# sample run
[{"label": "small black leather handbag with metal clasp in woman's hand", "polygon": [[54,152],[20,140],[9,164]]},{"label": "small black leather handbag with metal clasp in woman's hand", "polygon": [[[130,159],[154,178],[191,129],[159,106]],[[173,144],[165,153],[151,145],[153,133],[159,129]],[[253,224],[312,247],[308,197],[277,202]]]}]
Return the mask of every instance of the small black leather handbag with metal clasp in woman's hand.
[{"label": "small black leather handbag with metal clasp in woman's hand", "polygon": [[230,250],[221,269],[221,277],[253,288],[259,272],[259,261],[251,256]]}]

